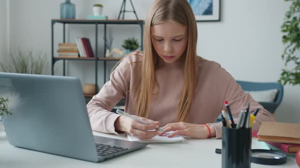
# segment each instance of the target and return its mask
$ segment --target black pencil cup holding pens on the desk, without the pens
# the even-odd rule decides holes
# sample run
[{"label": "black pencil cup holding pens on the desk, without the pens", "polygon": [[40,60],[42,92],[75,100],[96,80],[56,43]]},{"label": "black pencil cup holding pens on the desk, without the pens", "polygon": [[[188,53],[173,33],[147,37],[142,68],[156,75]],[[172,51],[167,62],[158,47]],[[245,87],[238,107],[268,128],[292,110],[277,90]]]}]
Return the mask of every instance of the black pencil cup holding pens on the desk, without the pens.
[{"label": "black pencil cup holding pens on the desk, without the pens", "polygon": [[251,133],[251,128],[222,128],[222,168],[251,167]]}]

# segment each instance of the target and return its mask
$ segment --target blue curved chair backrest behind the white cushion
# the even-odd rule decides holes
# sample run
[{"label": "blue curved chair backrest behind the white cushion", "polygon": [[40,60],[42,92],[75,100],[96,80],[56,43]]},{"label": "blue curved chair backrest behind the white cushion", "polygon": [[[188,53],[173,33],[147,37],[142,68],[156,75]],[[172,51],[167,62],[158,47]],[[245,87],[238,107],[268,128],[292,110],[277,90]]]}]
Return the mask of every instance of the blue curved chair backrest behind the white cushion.
[{"label": "blue curved chair backrest behind the white cushion", "polygon": [[252,81],[241,81],[236,80],[236,82],[242,87],[244,91],[264,91],[277,89],[277,95],[272,103],[258,102],[266,110],[271,113],[275,113],[275,110],[280,105],[283,98],[283,86],[279,82],[252,82]]}]

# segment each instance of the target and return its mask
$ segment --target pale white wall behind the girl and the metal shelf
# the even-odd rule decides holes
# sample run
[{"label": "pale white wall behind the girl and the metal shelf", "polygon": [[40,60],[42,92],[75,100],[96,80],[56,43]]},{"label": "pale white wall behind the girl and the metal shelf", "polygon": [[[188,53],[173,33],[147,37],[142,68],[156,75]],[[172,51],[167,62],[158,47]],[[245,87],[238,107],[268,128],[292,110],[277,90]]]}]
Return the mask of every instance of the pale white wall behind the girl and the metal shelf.
[{"label": "pale white wall behind the girl and the metal shelf", "polygon": [[[197,53],[207,59],[219,62],[236,79],[250,81],[277,81],[283,61],[281,54],[284,46],[281,42],[280,26],[289,4],[283,0],[221,0],[220,22],[198,23]],[[50,57],[51,30],[50,20],[59,18],[59,4],[63,1],[10,1],[11,50],[43,50]],[[139,19],[145,19],[146,12],[153,0],[133,1]],[[76,18],[85,18],[92,14],[92,5],[104,5],[104,14],[109,19],[116,19],[122,0],[80,1],[76,4]],[[1,7],[0,7],[1,8]],[[127,4],[130,9],[130,4]],[[2,10],[0,10],[2,11]],[[1,18],[2,19],[2,18]],[[126,19],[135,19],[133,14],[126,14]],[[109,25],[108,34],[114,37],[113,48],[121,48],[122,40],[135,36],[140,39],[137,25]],[[93,25],[67,26],[67,39],[74,42],[77,36],[91,39],[95,48],[95,27]],[[55,47],[62,41],[62,25],[55,24]],[[103,26],[99,25],[99,51],[103,53]],[[56,50],[56,48],[55,48]],[[100,63],[100,62],[99,62]],[[69,61],[67,73],[78,76],[82,83],[95,82],[94,63]],[[99,65],[99,82],[103,83]],[[110,65],[112,66],[112,64]],[[55,74],[62,74],[62,64],[55,64]],[[107,72],[108,73],[108,72]],[[299,122],[300,87],[285,87],[284,99],[276,112],[278,121]]]}]

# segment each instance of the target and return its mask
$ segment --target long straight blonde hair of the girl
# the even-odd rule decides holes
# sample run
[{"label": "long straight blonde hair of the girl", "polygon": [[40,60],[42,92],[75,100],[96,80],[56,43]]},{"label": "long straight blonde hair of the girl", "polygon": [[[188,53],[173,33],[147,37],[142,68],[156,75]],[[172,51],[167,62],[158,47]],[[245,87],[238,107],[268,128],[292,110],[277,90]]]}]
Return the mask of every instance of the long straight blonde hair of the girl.
[{"label": "long straight blonde hair of the girl", "polygon": [[190,4],[186,0],[156,0],[148,11],[144,27],[144,56],[139,81],[137,81],[136,111],[138,116],[147,117],[155,81],[155,69],[163,61],[151,41],[151,26],[172,20],[188,27],[188,45],[181,56],[183,61],[184,87],[176,113],[176,121],[187,121],[194,98],[196,82],[197,24]]}]

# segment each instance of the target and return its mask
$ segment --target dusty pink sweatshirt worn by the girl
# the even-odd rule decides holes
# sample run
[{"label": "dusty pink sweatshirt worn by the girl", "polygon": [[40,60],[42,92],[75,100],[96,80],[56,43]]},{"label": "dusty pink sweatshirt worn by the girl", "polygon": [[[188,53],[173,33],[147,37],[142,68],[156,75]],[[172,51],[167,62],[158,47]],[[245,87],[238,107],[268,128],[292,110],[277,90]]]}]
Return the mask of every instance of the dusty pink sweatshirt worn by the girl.
[{"label": "dusty pink sweatshirt worn by the girl", "polygon": [[[126,98],[125,111],[136,115],[134,81],[141,72],[142,52],[133,53],[123,59],[110,75],[100,92],[87,104],[87,112],[94,131],[118,134],[114,121],[119,114],[110,112],[116,103]],[[239,112],[245,110],[250,102],[250,111],[259,105],[245,93],[234,78],[218,63],[196,59],[197,80],[194,101],[188,115],[189,123],[211,123],[217,131],[217,137],[222,137],[222,123],[215,123],[221,110],[225,110],[227,100],[235,122]],[[159,67],[155,72],[159,93],[151,100],[149,119],[160,121],[160,127],[175,122],[176,108],[183,89],[183,69],[179,61]],[[157,88],[154,93],[157,93]],[[253,123],[253,130],[258,130],[262,121],[275,121],[274,115],[260,106],[259,113]]]}]

